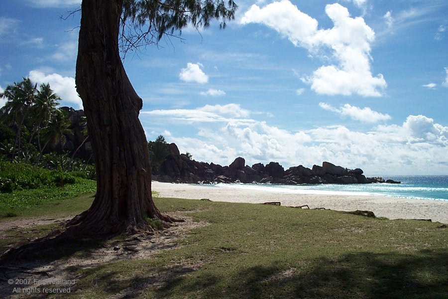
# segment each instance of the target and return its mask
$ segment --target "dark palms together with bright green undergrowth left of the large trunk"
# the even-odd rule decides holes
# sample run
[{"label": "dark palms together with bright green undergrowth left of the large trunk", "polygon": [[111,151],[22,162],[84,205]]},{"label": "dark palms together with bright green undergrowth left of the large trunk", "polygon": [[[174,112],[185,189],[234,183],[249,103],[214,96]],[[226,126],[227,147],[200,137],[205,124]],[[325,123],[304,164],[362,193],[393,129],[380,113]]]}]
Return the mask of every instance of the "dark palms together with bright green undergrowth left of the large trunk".
[{"label": "dark palms together with bright green undergrowth left of the large trunk", "polygon": [[[29,78],[0,94],[0,218],[12,217],[43,202],[94,192],[95,166],[74,135],[88,141],[85,118],[72,122],[67,107],[49,84]],[[79,134],[78,134],[79,135]]]}]

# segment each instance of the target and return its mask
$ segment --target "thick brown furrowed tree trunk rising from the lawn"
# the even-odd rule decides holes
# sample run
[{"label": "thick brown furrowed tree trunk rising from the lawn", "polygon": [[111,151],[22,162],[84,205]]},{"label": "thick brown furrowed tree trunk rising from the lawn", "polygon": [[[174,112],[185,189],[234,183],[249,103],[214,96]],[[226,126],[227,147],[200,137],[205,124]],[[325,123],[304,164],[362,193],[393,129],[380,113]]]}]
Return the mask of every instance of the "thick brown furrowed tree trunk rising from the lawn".
[{"label": "thick brown furrowed tree trunk rising from the lawn", "polygon": [[138,119],[142,100],[121,63],[122,0],[83,0],[76,87],[83,100],[97,169],[97,194],[68,228],[108,235],[148,229],[146,218],[172,221],[152,200],[147,141]]}]

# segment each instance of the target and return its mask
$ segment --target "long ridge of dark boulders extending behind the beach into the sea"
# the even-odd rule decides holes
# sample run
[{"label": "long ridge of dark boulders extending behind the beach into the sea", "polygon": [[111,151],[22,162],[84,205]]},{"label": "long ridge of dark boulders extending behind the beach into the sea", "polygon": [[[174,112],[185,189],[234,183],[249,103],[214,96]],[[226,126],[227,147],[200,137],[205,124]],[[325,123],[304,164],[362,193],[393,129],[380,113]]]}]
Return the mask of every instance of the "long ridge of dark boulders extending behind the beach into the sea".
[{"label": "long ridge of dark boulders extending behind the beach into the sea", "polygon": [[[382,177],[365,177],[360,168],[348,169],[330,162],[322,166],[303,165],[284,169],[278,162],[267,165],[245,164],[242,157],[237,157],[228,166],[214,163],[198,162],[181,154],[175,144],[168,146],[170,154],[162,162],[153,179],[178,183],[271,183],[271,184],[366,184],[384,183]],[[387,182],[395,182],[388,180]],[[399,183],[399,182],[396,182]]]}]

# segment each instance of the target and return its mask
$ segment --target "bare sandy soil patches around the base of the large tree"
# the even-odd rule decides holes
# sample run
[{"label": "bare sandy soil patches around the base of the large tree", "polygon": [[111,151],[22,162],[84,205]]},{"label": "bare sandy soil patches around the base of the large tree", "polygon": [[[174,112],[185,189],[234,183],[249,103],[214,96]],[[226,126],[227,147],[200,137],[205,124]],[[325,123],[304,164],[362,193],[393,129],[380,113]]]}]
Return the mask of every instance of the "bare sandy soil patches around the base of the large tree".
[{"label": "bare sandy soil patches around the base of the large tree", "polygon": [[[140,233],[129,236],[128,239],[124,240],[112,239],[98,248],[90,249],[86,254],[69,255],[66,258],[54,261],[18,259],[2,265],[0,271],[0,298],[24,298],[26,294],[37,294],[37,289],[40,290],[39,294],[42,296],[33,298],[47,298],[50,291],[45,291],[45,288],[72,293],[78,289],[77,283],[83,277],[82,274],[74,274],[77,270],[95,268],[124,260],[151,259],[157,253],[178,248],[181,246],[180,241],[186,238],[192,229],[207,225],[206,222],[193,221],[193,218],[188,215],[189,212],[191,211],[170,213],[171,216],[184,219],[185,222],[172,224],[169,228],[150,234]],[[48,224],[48,221],[60,222],[54,221],[56,219],[32,218],[28,220],[28,222],[26,222],[26,219],[22,219],[21,222],[15,222],[16,226],[12,227],[12,229]],[[198,269],[201,263],[200,261],[185,261],[170,264],[163,270],[148,269],[147,279],[143,282],[136,283],[132,287],[108,298],[118,299],[142,296],[148,286],[162,288],[166,286],[174,275],[186,275]],[[65,298],[65,296],[59,295],[59,297],[56,296],[55,298]]]}]

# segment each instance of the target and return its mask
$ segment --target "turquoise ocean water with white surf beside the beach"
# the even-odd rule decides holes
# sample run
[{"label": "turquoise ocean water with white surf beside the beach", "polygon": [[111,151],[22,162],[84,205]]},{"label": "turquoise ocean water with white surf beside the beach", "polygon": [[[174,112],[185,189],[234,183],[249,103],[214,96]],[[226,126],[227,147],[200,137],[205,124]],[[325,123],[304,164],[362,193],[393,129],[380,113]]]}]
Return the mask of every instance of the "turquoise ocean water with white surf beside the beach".
[{"label": "turquoise ocean water with white surf beside the beach", "polygon": [[[370,175],[369,175],[370,176]],[[320,185],[276,185],[276,184],[218,184],[219,188],[244,188],[282,193],[313,193],[337,195],[381,195],[427,200],[448,201],[448,175],[387,176],[401,184],[320,184]]]}]

